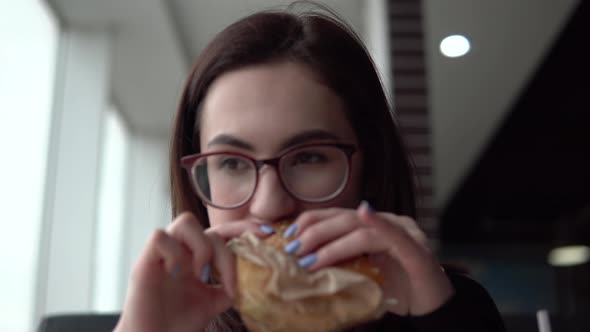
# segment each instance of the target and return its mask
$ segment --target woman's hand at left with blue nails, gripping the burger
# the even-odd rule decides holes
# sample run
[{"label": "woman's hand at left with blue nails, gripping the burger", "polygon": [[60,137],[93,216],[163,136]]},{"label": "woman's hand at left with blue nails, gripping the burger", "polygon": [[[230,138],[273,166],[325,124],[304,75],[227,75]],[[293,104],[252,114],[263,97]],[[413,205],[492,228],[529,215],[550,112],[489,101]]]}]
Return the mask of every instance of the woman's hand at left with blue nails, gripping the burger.
[{"label": "woman's hand at left with blue nails, gripping the burger", "polygon": [[[115,331],[202,331],[229,309],[236,293],[235,258],[225,241],[259,225],[236,221],[204,231],[191,213],[156,230],[133,267],[123,313]],[[201,280],[212,264],[220,286]]]}]

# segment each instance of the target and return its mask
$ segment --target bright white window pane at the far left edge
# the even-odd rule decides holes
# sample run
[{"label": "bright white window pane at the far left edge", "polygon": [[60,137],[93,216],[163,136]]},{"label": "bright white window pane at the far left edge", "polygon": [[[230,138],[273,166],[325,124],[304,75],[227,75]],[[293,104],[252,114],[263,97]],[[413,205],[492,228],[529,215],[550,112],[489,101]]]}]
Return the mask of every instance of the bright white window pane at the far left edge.
[{"label": "bright white window pane at the far left edge", "polygon": [[0,331],[34,328],[58,24],[42,0],[0,2]]}]

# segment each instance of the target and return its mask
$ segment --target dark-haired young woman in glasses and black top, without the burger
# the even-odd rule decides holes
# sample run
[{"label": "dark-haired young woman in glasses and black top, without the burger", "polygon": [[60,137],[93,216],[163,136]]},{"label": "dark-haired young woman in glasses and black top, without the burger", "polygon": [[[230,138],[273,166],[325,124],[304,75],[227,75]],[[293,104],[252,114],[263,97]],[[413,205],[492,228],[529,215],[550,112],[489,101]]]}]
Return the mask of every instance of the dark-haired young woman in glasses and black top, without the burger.
[{"label": "dark-haired young woman in glasses and black top, without the burger", "polygon": [[[117,331],[244,330],[228,239],[294,219],[315,271],[369,254],[399,300],[361,331],[502,331],[487,293],[445,272],[415,220],[414,174],[374,65],[339,20],[258,13],[198,58],[172,137],[174,221],[136,263]],[[210,266],[220,287],[207,284]]]}]

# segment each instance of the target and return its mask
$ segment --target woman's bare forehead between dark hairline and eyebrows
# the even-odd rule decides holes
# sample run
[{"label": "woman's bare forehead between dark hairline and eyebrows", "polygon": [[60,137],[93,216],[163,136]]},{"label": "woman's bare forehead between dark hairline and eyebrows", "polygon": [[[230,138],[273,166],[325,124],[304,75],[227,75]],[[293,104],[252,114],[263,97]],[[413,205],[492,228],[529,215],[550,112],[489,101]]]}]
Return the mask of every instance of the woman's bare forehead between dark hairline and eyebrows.
[{"label": "woman's bare forehead between dark hairline and eyebrows", "polygon": [[201,149],[217,135],[236,136],[260,149],[306,130],[355,142],[345,105],[302,64],[245,67],[213,82],[203,103]]}]

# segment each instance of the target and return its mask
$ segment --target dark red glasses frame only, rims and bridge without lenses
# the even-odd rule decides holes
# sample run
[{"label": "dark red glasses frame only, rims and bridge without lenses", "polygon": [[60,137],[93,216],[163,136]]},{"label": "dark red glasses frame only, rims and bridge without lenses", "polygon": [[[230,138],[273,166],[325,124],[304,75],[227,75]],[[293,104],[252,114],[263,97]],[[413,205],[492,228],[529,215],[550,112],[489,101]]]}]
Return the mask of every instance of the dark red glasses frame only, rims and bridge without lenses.
[{"label": "dark red glasses frame only, rims and bridge without lenses", "polygon": [[[348,174],[346,175],[346,180],[344,182],[344,185],[342,185],[341,188],[338,191],[336,191],[334,194],[327,196],[326,198],[322,198],[322,199],[307,200],[307,199],[302,199],[301,197],[292,193],[291,190],[289,190],[289,188],[285,184],[285,181],[283,180],[283,174],[282,174],[282,171],[281,171],[279,165],[280,165],[280,162],[283,159],[283,157],[286,156],[287,154],[289,154],[293,151],[299,150],[299,149],[315,147],[315,146],[335,147],[335,148],[340,149],[342,152],[344,152],[344,154],[346,155],[346,160],[348,162]],[[304,203],[326,203],[326,202],[329,202],[333,199],[336,199],[348,187],[348,184],[350,183],[350,178],[352,176],[352,155],[356,151],[357,151],[356,145],[349,144],[349,143],[310,143],[310,144],[302,144],[302,145],[294,146],[292,148],[289,148],[289,149],[281,152],[281,154],[279,154],[278,156],[276,156],[274,158],[268,158],[268,159],[254,159],[247,154],[240,153],[240,152],[234,152],[234,151],[215,151],[215,152],[208,152],[208,153],[196,153],[196,154],[192,154],[192,155],[188,155],[188,156],[184,156],[184,157],[180,158],[180,165],[182,166],[182,168],[184,168],[187,171],[189,179],[191,181],[191,185],[193,187],[193,190],[199,196],[199,198],[201,198],[201,200],[203,202],[205,202],[207,205],[213,206],[218,209],[230,210],[230,209],[236,209],[236,208],[246,205],[252,199],[254,194],[256,193],[256,189],[258,188],[258,179],[260,177],[260,169],[264,165],[272,166],[275,169],[275,171],[277,172],[277,175],[279,177],[279,182],[281,183],[281,186],[283,187],[285,192],[289,193],[289,195],[291,195],[291,197],[293,197],[295,200],[297,200],[299,202],[304,202]],[[252,193],[250,194],[250,196],[248,196],[248,198],[244,199],[243,202],[240,202],[239,204],[236,204],[236,205],[233,205],[230,207],[219,206],[219,205],[216,205],[213,202],[211,202],[205,196],[205,194],[203,194],[201,192],[201,190],[199,189],[199,185],[197,184],[197,180],[196,180],[195,176],[193,175],[194,174],[193,169],[196,167],[197,161],[199,159],[213,156],[213,155],[219,155],[219,154],[241,157],[241,158],[250,160],[256,166],[256,172],[255,172],[256,178],[254,179],[255,182],[254,182],[254,188],[252,189]]]}]

